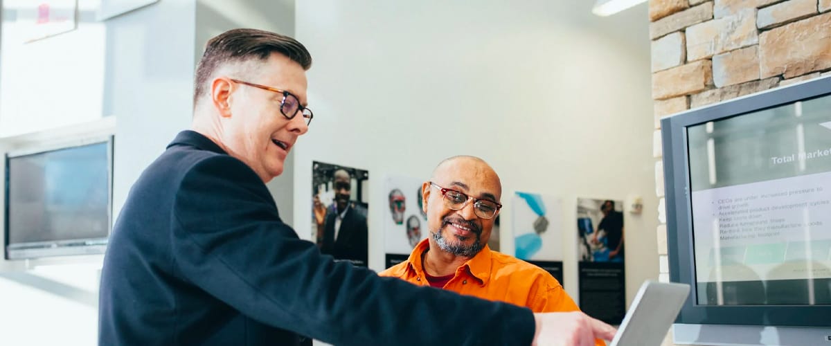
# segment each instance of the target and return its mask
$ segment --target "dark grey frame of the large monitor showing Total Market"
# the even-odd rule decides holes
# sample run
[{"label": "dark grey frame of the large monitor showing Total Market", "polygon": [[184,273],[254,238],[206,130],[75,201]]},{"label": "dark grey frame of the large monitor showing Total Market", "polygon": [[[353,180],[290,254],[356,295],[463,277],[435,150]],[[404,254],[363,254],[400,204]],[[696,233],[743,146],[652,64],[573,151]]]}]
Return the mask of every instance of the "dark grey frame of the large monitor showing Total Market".
[{"label": "dark grey frame of the large monitor showing Total Market", "polygon": [[[661,119],[666,240],[671,281],[696,287],[687,127],[822,96],[831,97],[831,76]],[[698,305],[697,301],[698,290],[693,289],[676,323],[831,327],[831,305]]]}]

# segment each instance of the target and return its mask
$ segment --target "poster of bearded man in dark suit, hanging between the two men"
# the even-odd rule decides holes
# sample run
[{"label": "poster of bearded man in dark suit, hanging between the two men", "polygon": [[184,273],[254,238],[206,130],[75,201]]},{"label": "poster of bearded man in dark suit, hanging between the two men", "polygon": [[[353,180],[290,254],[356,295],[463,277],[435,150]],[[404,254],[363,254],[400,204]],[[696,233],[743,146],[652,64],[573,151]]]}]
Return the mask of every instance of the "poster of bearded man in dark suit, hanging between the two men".
[{"label": "poster of bearded man in dark suit, hanging between the two men", "polygon": [[368,186],[364,169],[312,162],[312,234],[322,253],[367,266]]}]

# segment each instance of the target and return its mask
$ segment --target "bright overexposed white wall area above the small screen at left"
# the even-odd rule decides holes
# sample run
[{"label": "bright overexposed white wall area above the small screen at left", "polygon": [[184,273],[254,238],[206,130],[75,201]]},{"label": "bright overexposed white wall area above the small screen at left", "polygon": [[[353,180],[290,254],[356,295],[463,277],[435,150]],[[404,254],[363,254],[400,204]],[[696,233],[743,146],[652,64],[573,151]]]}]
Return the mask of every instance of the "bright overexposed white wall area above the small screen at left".
[{"label": "bright overexposed white wall area above the small screen at left", "polygon": [[2,2],[0,137],[101,118],[105,26],[97,0],[78,0],[76,30],[24,43],[34,21],[28,0]]}]

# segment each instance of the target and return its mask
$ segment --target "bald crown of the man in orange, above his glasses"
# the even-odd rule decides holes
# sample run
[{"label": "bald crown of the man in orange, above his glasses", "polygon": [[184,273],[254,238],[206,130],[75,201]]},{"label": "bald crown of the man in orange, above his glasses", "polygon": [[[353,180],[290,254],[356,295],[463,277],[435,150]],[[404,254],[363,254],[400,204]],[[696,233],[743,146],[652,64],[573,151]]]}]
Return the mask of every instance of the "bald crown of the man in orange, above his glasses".
[{"label": "bald crown of the man in orange, above his glasses", "polygon": [[470,155],[457,155],[442,160],[430,176],[434,183],[446,183],[452,186],[470,188],[470,180],[475,183],[484,183],[489,190],[484,192],[494,201],[499,202],[502,195],[502,182],[494,168],[483,159]]}]

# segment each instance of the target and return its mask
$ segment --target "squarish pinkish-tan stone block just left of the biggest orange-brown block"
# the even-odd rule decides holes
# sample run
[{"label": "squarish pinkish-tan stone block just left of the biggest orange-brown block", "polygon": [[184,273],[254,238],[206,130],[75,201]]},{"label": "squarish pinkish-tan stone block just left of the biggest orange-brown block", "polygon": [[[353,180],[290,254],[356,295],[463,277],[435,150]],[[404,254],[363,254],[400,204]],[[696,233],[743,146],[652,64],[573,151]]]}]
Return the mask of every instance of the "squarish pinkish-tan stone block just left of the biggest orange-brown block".
[{"label": "squarish pinkish-tan stone block just left of the biggest orange-brown block", "polygon": [[759,46],[713,56],[713,83],[720,88],[759,79]]}]

